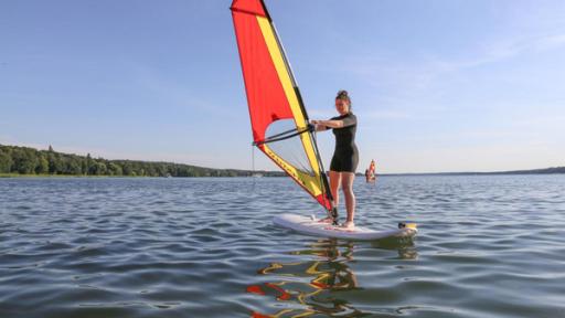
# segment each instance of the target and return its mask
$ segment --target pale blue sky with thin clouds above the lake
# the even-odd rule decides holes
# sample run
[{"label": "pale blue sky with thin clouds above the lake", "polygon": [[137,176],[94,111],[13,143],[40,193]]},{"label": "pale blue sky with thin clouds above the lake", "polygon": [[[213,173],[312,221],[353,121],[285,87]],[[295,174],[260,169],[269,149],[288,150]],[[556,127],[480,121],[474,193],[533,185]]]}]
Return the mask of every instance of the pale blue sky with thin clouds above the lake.
[{"label": "pale blue sky with thin clouds above the lake", "polygon": [[[0,144],[276,170],[250,146],[230,4],[0,1]],[[565,166],[565,1],[266,4],[310,118],[350,93],[359,171]]]}]

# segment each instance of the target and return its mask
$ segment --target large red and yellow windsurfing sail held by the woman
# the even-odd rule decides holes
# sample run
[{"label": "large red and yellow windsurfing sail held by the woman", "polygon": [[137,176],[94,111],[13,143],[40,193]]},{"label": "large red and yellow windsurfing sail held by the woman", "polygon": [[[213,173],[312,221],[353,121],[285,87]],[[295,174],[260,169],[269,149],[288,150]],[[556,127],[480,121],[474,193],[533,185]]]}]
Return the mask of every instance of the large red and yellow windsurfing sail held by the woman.
[{"label": "large red and yellow windsurfing sail held by the woman", "polygon": [[331,192],[292,72],[260,0],[234,0],[232,17],[254,145],[328,211]]}]

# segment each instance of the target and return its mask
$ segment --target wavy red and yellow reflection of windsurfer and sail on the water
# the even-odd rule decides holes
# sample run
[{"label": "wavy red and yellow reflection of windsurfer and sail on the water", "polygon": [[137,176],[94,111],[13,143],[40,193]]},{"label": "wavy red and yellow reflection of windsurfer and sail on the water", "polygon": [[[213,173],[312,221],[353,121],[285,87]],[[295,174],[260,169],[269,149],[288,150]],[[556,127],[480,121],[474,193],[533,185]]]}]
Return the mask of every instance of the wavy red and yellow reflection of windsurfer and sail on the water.
[{"label": "wavy red and yellow reflection of windsurfer and sail on the water", "polygon": [[[273,282],[247,286],[247,293],[274,297],[285,301],[286,308],[275,314],[254,311],[252,317],[362,317],[370,314],[356,309],[344,297],[340,297],[347,296],[343,292],[363,289],[350,266],[350,263],[354,263],[353,251],[356,244],[361,243],[320,239],[310,243],[307,250],[290,253],[310,259],[271,263],[258,269],[259,275],[271,276]],[[399,259],[417,257],[413,241],[377,241],[371,246],[396,250]]]}]

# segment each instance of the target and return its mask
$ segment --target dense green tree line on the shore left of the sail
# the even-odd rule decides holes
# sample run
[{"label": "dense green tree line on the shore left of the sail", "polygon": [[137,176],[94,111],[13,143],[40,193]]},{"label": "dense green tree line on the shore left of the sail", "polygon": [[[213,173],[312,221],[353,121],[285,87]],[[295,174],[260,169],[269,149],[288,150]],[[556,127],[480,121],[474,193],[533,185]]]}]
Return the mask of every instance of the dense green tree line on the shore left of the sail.
[{"label": "dense green tree line on the shore left of the sail", "polygon": [[[0,173],[124,177],[250,177],[253,171],[212,169],[172,162],[107,160],[30,147],[0,145]],[[280,176],[279,172],[266,172]]]}]

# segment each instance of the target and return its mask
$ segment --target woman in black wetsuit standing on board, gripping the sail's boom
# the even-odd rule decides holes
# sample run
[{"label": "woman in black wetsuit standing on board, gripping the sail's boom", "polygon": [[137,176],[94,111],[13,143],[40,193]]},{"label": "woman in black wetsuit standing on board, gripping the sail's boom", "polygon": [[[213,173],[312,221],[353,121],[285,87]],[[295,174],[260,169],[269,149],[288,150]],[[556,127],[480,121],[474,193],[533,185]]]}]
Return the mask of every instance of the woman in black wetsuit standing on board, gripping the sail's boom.
[{"label": "woman in black wetsuit standing on board, gripping the sail's boom", "polygon": [[[353,216],[355,216],[355,195],[353,194],[353,180],[359,163],[359,150],[355,146],[355,131],[358,118],[351,113],[351,98],[347,91],[338,92],[335,96],[335,109],[340,116],[330,120],[312,120],[317,131],[333,129],[335,135],[335,150],[330,165],[330,190],[333,195],[333,206],[339,204],[339,188],[345,197],[345,210],[348,219],[343,223],[345,229],[354,229]],[[333,221],[331,216],[322,220]]]}]

